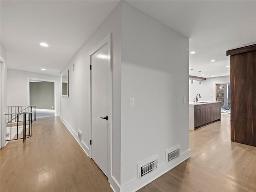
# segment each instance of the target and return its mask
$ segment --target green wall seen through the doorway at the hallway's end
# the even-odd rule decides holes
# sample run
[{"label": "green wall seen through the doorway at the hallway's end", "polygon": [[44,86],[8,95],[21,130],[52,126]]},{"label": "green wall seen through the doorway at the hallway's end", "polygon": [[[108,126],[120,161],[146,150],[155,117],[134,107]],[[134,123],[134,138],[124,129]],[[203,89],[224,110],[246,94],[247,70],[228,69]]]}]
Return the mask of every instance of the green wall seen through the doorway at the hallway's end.
[{"label": "green wall seen through the doorway at the hallway's end", "polygon": [[29,87],[31,106],[54,110],[54,82],[30,82]]}]

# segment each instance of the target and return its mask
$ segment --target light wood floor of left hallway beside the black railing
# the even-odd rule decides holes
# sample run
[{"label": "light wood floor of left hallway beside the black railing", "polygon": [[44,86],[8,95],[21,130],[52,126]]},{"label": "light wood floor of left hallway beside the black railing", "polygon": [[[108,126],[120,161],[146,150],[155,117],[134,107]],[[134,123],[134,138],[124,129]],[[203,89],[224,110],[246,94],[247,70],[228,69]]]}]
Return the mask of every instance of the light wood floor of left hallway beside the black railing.
[{"label": "light wood floor of left hallway beside the black railing", "polygon": [[0,192],[112,192],[59,118],[37,119],[32,137],[0,150]]}]

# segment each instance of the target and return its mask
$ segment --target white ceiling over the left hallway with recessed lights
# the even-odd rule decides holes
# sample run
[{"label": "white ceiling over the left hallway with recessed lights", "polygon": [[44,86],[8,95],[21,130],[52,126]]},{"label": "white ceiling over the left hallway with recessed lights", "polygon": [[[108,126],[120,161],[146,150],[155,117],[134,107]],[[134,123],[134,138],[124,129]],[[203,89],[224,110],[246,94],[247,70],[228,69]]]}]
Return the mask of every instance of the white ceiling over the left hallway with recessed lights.
[{"label": "white ceiling over the left hallway with recessed lights", "polygon": [[1,0],[1,44],[8,68],[59,75],[117,4]]}]

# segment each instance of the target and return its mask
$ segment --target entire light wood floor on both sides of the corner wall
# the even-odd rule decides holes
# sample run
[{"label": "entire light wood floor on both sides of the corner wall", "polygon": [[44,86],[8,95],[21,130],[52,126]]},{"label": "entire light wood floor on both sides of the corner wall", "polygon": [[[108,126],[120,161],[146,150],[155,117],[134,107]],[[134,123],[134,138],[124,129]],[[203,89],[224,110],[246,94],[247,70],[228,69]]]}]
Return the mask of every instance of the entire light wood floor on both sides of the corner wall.
[{"label": "entire light wood floor on both sides of the corner wall", "polygon": [[[230,142],[230,115],[190,131],[192,157],[139,192],[256,192],[256,147]],[[59,118],[0,150],[1,192],[110,192],[107,178]]]}]

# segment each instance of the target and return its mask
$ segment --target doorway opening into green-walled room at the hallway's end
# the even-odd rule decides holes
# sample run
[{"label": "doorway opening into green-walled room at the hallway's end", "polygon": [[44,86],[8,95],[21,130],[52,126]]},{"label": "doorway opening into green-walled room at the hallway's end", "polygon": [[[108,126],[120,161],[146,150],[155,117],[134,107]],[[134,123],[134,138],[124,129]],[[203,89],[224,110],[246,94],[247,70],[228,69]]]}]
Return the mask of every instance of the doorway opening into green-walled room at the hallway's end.
[{"label": "doorway opening into green-walled room at the hallway's end", "polygon": [[36,106],[36,119],[56,116],[56,82],[28,78],[28,104]]}]

